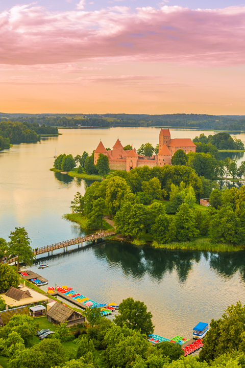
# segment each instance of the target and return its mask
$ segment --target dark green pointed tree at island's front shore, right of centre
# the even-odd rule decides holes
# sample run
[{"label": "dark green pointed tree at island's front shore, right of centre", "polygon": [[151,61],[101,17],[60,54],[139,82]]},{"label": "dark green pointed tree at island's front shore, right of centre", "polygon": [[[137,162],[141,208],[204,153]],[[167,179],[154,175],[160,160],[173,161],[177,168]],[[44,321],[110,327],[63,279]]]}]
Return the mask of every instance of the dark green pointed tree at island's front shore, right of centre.
[{"label": "dark green pointed tree at island's front shore, right of centre", "polygon": [[189,241],[199,234],[195,223],[195,214],[186,203],[182,203],[175,216],[176,238],[179,241]]}]

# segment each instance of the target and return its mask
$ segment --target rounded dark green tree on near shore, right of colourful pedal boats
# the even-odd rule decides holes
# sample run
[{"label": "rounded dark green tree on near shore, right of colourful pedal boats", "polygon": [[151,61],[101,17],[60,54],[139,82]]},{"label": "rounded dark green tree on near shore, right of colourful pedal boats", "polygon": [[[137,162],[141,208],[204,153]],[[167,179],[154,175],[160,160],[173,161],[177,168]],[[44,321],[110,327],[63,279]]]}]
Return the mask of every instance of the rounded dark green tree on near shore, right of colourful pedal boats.
[{"label": "rounded dark green tree on near shore, right of colourful pedal boats", "polygon": [[152,313],[147,311],[143,302],[134,301],[132,297],[129,297],[119,304],[118,312],[119,314],[115,315],[114,318],[117,326],[125,325],[146,335],[154,332]]}]

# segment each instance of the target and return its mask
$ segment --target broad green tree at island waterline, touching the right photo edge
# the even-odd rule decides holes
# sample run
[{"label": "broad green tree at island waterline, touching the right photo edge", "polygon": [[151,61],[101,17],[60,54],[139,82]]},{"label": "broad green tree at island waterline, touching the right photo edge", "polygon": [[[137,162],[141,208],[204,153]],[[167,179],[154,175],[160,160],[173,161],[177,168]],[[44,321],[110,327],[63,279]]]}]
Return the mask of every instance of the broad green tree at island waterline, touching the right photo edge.
[{"label": "broad green tree at island waterline, touching the right photo edge", "polygon": [[244,244],[245,229],[231,204],[227,204],[213,216],[210,235],[214,243]]}]

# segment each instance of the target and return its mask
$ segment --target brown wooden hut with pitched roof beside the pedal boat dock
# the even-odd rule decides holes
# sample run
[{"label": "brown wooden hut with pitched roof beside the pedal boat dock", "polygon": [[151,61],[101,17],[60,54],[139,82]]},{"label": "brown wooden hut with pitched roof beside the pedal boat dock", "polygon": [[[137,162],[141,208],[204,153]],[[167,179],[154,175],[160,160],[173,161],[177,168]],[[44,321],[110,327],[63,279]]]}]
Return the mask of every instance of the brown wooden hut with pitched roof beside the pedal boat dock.
[{"label": "brown wooden hut with pitched roof beside the pedal boat dock", "polygon": [[67,327],[84,323],[85,318],[79,312],[76,312],[62,303],[55,303],[47,311],[47,320],[55,325],[65,323],[67,321]]}]

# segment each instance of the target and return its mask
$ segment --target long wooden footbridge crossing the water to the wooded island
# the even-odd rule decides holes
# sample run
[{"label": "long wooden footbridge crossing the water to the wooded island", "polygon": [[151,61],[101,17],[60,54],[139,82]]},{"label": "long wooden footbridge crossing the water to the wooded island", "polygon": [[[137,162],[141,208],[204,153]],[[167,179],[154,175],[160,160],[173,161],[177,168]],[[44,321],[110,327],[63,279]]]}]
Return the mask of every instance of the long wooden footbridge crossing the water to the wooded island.
[{"label": "long wooden footbridge crossing the water to the wooded island", "polygon": [[65,248],[67,250],[69,245],[78,244],[78,247],[79,247],[80,244],[81,244],[81,246],[83,246],[84,242],[91,241],[91,240],[92,241],[95,240],[95,242],[96,242],[97,239],[103,239],[103,238],[106,238],[106,237],[109,237],[109,236],[112,236],[112,235],[115,235],[115,234],[116,233],[114,231],[101,232],[101,233],[96,233],[96,234],[89,234],[89,235],[86,235],[84,237],[65,240],[65,241],[62,241],[62,242],[59,242],[59,243],[46,245],[46,246],[41,247],[41,248],[35,248],[35,249],[33,249],[33,253],[34,253],[34,256],[38,256],[38,255],[43,254],[43,253],[48,253],[48,256],[49,256],[50,252],[53,255],[53,250],[63,248],[64,252],[65,252]]}]

